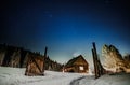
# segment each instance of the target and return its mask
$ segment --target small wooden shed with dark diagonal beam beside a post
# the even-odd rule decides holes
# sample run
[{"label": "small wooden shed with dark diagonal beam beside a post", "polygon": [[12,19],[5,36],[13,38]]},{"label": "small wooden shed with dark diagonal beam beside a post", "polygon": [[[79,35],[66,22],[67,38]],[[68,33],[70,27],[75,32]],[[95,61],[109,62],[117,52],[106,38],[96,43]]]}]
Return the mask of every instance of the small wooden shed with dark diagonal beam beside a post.
[{"label": "small wooden shed with dark diagonal beam beside a post", "polygon": [[28,55],[25,75],[44,75],[44,57]]}]

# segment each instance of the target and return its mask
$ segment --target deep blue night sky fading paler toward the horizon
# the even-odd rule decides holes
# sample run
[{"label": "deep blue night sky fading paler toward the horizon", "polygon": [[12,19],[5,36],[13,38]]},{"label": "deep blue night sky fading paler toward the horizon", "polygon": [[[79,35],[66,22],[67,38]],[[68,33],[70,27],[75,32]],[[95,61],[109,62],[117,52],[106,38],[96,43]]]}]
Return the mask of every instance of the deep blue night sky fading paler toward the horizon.
[{"label": "deep blue night sky fading paler toward the horizon", "polygon": [[[4,1],[4,2],[3,2]],[[130,53],[129,0],[2,0],[0,43],[23,46],[66,62],[82,54],[91,60],[92,42]]]}]

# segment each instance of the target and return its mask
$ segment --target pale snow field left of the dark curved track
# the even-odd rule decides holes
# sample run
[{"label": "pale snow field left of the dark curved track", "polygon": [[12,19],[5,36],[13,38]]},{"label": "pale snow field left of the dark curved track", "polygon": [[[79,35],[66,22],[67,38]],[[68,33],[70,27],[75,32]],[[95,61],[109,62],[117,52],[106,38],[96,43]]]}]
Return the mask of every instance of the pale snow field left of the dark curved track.
[{"label": "pale snow field left of the dark curved track", "polygon": [[69,85],[87,74],[46,71],[44,76],[25,76],[25,69],[0,67],[0,85]]}]

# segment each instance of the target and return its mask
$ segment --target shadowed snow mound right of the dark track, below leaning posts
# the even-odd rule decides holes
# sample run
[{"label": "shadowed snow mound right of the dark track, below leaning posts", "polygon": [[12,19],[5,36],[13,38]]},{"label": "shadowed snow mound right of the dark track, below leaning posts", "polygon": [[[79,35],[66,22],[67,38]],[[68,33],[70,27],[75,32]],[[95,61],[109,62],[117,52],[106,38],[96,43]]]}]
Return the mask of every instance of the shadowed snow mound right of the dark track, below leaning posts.
[{"label": "shadowed snow mound right of the dark track, below leaning posts", "polygon": [[96,80],[94,76],[89,76],[80,80],[79,84],[75,85],[130,85],[130,74],[106,74]]}]

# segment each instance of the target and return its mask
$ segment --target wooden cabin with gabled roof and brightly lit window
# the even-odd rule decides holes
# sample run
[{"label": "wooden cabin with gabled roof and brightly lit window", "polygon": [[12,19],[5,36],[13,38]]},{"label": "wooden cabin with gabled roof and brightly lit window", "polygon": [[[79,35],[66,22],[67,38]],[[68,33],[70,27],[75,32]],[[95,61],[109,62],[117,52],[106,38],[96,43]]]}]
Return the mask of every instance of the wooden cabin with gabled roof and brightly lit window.
[{"label": "wooden cabin with gabled roof and brightly lit window", "polygon": [[70,59],[63,69],[64,72],[77,72],[77,73],[88,73],[89,63],[83,58],[82,55]]}]

